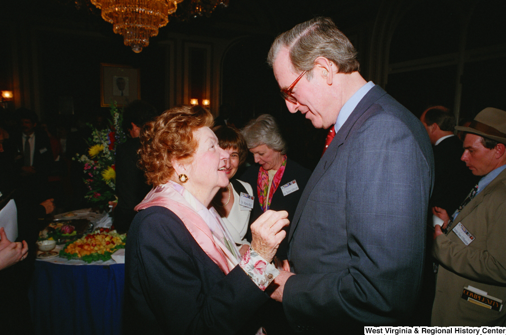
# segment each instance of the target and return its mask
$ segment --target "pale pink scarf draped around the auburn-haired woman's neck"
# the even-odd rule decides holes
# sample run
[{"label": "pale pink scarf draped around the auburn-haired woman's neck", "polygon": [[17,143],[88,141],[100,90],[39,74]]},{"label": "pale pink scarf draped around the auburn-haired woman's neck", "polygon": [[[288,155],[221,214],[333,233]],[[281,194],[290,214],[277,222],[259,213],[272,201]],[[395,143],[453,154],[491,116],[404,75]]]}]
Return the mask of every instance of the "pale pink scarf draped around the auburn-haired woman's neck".
[{"label": "pale pink scarf draped around the auburn-haired woman's neck", "polygon": [[[231,267],[235,266],[233,264],[234,259],[237,261],[235,264],[238,264],[236,255],[239,254],[235,244],[233,244],[233,246],[227,246],[228,241],[230,241],[227,234],[230,235],[230,233],[220,222],[220,216],[214,208],[207,210],[204,205],[198,202],[191,194],[186,195],[186,197],[190,196],[193,202],[196,202],[196,206],[199,208],[197,212],[185,199],[185,192],[188,192],[188,190],[183,186],[169,181],[166,184],[153,187],[144,200],[135,207],[135,210],[140,211],[151,206],[162,206],[170,209],[183,221],[190,234],[206,255],[209,256],[225,274],[229,273]],[[201,215],[203,215],[205,219]],[[206,221],[209,221],[209,223],[206,223]],[[225,238],[223,238],[224,236]],[[219,241],[224,243],[221,244]],[[233,255],[235,252],[229,252],[227,247],[230,249],[235,248],[237,254]]]}]

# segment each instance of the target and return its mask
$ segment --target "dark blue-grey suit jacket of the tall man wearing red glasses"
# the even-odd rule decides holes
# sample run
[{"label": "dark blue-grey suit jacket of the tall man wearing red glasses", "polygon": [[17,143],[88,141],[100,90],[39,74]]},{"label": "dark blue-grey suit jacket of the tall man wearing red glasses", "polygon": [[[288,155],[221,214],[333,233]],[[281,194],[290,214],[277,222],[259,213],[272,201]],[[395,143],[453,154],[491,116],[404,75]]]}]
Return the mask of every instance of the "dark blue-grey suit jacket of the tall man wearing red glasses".
[{"label": "dark blue-grey suit jacket of the tall man wearing red glasses", "polygon": [[374,86],[336,133],[290,226],[296,275],[284,286],[283,308],[296,330],[353,333],[409,315],[433,170],[424,126]]}]

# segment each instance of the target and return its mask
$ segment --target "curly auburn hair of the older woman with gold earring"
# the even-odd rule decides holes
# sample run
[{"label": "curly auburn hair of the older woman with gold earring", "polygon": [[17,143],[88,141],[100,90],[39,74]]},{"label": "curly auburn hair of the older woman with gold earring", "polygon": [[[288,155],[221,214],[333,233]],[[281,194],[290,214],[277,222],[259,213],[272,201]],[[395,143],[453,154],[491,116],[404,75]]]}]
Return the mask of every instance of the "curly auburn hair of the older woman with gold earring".
[{"label": "curly auburn hair of the older woman with gold earring", "polygon": [[171,108],[146,123],[139,136],[138,154],[147,183],[153,186],[166,183],[174,173],[172,160],[191,158],[197,150],[193,132],[201,127],[212,127],[213,123],[209,111],[188,105]]}]

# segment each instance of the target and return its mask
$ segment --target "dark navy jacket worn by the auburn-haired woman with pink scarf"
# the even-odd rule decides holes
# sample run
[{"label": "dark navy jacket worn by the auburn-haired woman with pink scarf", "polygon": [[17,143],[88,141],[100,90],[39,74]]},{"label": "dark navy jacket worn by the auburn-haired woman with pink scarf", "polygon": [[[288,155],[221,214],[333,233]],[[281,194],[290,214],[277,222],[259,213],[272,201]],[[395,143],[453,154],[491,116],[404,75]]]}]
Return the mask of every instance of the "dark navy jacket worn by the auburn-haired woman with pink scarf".
[{"label": "dark navy jacket worn by the auburn-haired woman with pink scarf", "polygon": [[172,211],[134,218],[125,248],[124,333],[254,334],[266,293],[236,266],[225,275]]}]

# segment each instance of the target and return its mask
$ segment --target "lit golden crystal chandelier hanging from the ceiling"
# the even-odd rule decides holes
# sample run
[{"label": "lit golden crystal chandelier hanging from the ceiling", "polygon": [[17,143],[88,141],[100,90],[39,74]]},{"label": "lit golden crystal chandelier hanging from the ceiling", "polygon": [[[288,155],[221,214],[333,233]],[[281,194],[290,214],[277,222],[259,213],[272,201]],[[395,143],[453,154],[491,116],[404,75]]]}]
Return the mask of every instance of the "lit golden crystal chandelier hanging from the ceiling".
[{"label": "lit golden crystal chandelier hanging from the ceiling", "polygon": [[140,53],[148,46],[149,37],[168,23],[183,0],[91,0],[102,10],[102,18],[112,23],[113,31],[123,35],[125,45]]}]

